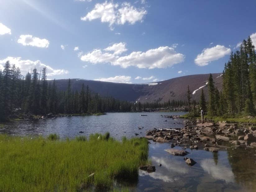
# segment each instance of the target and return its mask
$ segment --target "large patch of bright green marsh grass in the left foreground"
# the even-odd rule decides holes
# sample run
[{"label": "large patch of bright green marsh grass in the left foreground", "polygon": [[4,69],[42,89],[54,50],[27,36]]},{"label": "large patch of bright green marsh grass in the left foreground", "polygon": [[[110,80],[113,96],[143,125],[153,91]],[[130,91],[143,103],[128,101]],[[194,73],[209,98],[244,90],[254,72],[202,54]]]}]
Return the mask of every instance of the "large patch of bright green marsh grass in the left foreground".
[{"label": "large patch of bright green marsh grass in the left foreground", "polygon": [[138,167],[148,161],[145,138],[78,138],[0,135],[0,191],[80,191],[91,185],[113,190],[115,179],[137,180]]}]

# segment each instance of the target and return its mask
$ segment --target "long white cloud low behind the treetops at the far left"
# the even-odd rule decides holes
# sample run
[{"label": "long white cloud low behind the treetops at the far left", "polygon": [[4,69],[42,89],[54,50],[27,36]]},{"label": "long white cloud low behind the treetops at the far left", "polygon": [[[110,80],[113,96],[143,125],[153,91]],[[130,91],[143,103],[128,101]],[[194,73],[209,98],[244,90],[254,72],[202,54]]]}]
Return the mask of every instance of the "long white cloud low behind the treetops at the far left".
[{"label": "long white cloud low behind the treetops at the far left", "polygon": [[22,75],[25,75],[28,71],[34,69],[34,67],[36,67],[38,71],[40,71],[40,68],[46,67],[47,76],[68,74],[67,70],[53,69],[52,67],[41,63],[39,60],[22,60],[21,57],[7,57],[3,60],[0,60],[0,65],[4,65],[7,61],[9,61],[11,65],[15,64],[16,67],[19,67],[21,69]]}]

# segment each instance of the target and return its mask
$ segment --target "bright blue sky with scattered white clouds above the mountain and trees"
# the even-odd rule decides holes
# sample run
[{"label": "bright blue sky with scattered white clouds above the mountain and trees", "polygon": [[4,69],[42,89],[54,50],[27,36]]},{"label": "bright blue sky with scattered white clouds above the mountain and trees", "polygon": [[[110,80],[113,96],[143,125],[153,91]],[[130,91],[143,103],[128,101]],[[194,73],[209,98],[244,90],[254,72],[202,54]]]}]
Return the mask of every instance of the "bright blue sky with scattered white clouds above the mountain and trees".
[{"label": "bright blue sky with scattered white clouds above the mountain and trees", "polygon": [[218,73],[243,39],[256,45],[255,10],[235,0],[2,0],[0,68],[126,83]]}]

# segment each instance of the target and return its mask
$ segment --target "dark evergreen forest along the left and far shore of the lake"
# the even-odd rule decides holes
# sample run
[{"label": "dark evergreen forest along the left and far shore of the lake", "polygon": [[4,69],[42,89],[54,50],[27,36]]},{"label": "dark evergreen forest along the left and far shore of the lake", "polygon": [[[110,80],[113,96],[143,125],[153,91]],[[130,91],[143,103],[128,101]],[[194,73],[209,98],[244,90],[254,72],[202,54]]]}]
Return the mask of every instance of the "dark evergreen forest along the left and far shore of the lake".
[{"label": "dark evergreen forest along the left and far shore of the lake", "polygon": [[84,84],[80,91],[74,91],[71,89],[70,80],[66,90],[58,90],[55,80],[52,83],[47,81],[45,67],[40,72],[34,68],[25,77],[21,75],[19,67],[11,65],[9,61],[5,63],[4,70],[0,70],[0,121],[12,118],[17,113],[45,115],[135,112],[147,108],[179,107],[186,104],[181,100],[169,100],[164,103],[159,101],[134,103],[113,97],[102,97]]}]

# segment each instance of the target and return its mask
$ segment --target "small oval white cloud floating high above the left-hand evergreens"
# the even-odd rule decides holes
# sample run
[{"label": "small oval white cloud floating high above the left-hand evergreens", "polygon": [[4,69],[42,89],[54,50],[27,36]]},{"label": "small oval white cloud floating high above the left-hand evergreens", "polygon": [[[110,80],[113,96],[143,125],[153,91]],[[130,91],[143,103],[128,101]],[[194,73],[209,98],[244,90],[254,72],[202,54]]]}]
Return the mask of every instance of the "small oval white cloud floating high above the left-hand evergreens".
[{"label": "small oval white cloud floating high above the left-hand evergreens", "polygon": [[18,43],[24,46],[30,45],[41,48],[48,48],[50,42],[47,39],[40,39],[38,37],[33,37],[32,35],[21,35],[18,39]]}]

